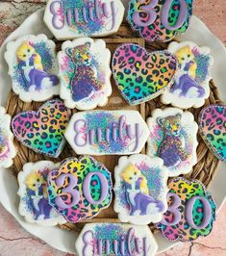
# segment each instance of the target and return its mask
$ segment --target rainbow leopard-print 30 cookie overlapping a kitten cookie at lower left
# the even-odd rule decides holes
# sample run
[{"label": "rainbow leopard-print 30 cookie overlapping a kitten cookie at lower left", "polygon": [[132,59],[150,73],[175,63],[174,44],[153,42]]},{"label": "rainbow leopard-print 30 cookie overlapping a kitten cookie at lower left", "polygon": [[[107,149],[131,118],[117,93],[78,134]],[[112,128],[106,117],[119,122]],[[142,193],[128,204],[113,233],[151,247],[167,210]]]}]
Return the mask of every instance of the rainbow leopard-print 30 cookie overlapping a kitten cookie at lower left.
[{"label": "rainbow leopard-print 30 cookie overlapping a kitten cookie at lower left", "polygon": [[48,177],[49,203],[69,222],[93,218],[111,204],[111,172],[89,156],[68,158]]}]

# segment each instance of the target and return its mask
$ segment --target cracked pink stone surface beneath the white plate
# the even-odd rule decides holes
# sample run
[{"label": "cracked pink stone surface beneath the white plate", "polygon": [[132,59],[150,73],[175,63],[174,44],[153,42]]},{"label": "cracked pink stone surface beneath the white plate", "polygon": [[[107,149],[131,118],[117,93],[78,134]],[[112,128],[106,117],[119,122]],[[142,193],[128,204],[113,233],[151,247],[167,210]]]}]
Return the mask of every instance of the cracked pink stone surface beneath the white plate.
[{"label": "cracked pink stone surface beneath the white plate", "polygon": [[[196,0],[194,14],[226,44],[226,0]],[[0,44],[45,0],[0,0]],[[1,256],[69,256],[27,233],[0,205]],[[179,243],[160,256],[226,256],[226,204],[216,217],[212,234],[193,243]]]}]

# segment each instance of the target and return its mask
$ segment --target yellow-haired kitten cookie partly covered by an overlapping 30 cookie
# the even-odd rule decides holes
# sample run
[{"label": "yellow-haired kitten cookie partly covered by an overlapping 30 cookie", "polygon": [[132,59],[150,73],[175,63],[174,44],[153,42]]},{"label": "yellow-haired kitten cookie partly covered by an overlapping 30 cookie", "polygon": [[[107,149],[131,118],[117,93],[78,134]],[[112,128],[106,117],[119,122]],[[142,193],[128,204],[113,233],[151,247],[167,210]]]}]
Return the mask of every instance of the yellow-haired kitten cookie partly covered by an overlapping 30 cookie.
[{"label": "yellow-haired kitten cookie partly covered by an overlapping 30 cookie", "polygon": [[66,222],[49,204],[47,194],[48,173],[59,167],[60,164],[40,161],[25,164],[23,171],[18,173],[19,214],[28,222],[43,226],[55,226]]}]

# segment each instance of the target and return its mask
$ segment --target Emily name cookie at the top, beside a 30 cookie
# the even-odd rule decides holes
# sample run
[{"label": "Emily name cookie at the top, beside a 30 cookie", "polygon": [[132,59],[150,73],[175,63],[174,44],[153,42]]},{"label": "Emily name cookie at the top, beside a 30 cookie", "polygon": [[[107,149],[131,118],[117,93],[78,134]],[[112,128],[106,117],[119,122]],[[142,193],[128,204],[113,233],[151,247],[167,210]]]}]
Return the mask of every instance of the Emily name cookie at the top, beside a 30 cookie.
[{"label": "Emily name cookie at the top, beside a 30 cookie", "polygon": [[103,37],[117,32],[123,15],[120,0],[49,0],[44,22],[59,40]]}]

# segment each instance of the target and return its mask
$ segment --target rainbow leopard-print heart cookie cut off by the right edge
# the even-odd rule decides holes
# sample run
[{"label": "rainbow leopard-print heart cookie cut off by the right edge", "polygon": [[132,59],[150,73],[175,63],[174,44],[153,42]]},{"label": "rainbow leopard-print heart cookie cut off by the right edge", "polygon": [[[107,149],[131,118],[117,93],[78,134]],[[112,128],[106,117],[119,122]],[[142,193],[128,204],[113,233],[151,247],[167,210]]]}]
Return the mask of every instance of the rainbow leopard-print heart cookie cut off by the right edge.
[{"label": "rainbow leopard-print heart cookie cut off by the right edge", "polygon": [[201,135],[213,154],[226,162],[226,106],[211,105],[199,115]]}]

